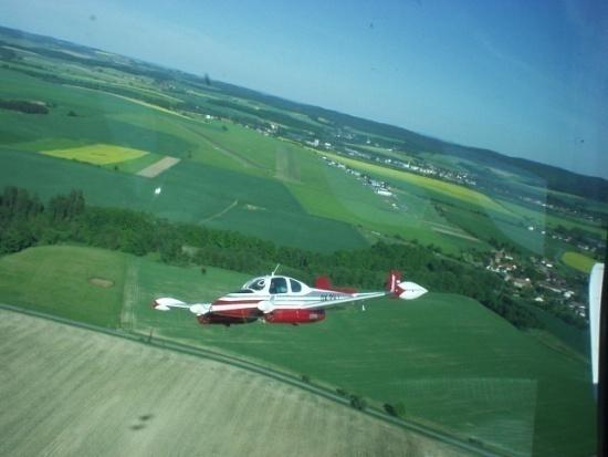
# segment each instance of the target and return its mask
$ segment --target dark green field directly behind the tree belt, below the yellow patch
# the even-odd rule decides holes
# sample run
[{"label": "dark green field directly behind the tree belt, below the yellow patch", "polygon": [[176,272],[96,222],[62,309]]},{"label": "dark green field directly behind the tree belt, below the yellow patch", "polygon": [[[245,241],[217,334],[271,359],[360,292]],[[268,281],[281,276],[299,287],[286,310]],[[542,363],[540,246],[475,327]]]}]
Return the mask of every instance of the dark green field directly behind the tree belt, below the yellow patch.
[{"label": "dark green field directly behind the tree belt, below the yellow patch", "polygon": [[[193,224],[202,224],[237,199],[240,209],[214,218],[209,226],[319,251],[367,246],[354,227],[306,214],[279,181],[190,160],[181,160],[156,178],[145,178],[0,148],[0,187],[8,185],[25,187],[43,199],[82,189],[91,205],[138,209]],[[156,195],[158,187],[161,193]],[[249,210],[250,207],[265,210]]]}]

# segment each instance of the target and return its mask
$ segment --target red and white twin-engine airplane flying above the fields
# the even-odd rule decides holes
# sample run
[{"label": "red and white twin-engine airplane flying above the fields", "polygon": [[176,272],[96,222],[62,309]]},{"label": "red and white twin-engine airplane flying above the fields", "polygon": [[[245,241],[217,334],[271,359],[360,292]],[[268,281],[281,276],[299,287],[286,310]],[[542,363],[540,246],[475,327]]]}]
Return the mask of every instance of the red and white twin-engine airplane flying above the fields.
[{"label": "red and white twin-engine airplane flying above the fields", "polygon": [[[275,270],[276,271],[276,270]],[[357,292],[349,288],[332,287],[326,277],[317,278],[311,288],[293,278],[277,276],[254,278],[237,292],[220,297],[211,303],[185,303],[171,298],[156,299],[153,307],[159,311],[171,308],[187,309],[201,324],[238,324],[262,320],[273,324],[304,324],[325,319],[327,308],[340,307],[361,300],[394,295],[413,300],[427,293],[427,289],[413,282],[401,282],[401,274],[391,271],[386,290]]]}]

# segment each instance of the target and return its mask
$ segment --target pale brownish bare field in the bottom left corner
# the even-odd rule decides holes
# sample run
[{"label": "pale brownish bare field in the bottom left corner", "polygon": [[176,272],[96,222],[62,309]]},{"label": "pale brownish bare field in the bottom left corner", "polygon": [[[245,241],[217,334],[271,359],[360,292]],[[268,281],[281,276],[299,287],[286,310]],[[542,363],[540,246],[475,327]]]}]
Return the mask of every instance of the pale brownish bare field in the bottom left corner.
[{"label": "pale brownish bare field in the bottom left corner", "polygon": [[459,455],[218,362],[3,310],[0,335],[2,456]]}]

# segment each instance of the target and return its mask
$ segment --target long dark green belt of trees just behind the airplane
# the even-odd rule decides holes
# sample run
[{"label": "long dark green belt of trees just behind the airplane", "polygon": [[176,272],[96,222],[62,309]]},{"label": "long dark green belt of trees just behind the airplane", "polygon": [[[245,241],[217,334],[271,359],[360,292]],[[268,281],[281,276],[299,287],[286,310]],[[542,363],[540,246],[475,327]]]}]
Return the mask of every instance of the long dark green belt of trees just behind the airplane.
[{"label": "long dark green belt of trees just behind the airplane", "polygon": [[394,268],[433,291],[471,297],[517,328],[539,328],[538,319],[513,300],[496,276],[421,246],[378,242],[367,249],[318,253],[279,247],[233,231],[170,222],[154,215],[88,207],[72,190],[43,205],[24,189],[7,187],[0,196],[0,253],[34,245],[78,242],[144,256],[158,252],[174,264],[213,266],[260,274],[281,263],[282,272],[313,282],[328,274],[336,284],[377,289]]}]

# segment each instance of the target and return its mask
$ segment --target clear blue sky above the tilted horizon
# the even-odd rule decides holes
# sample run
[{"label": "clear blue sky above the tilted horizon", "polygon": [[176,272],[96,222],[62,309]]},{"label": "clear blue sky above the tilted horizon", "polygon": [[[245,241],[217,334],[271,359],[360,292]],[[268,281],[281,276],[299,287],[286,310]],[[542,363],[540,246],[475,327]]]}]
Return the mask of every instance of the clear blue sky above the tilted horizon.
[{"label": "clear blue sky above the tilted horizon", "polygon": [[608,178],[608,2],[2,0],[0,24]]}]

